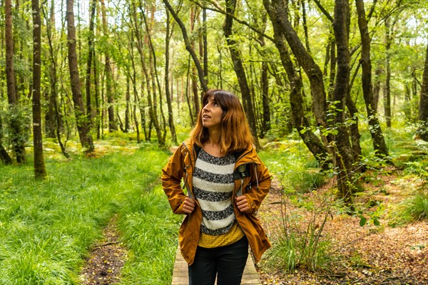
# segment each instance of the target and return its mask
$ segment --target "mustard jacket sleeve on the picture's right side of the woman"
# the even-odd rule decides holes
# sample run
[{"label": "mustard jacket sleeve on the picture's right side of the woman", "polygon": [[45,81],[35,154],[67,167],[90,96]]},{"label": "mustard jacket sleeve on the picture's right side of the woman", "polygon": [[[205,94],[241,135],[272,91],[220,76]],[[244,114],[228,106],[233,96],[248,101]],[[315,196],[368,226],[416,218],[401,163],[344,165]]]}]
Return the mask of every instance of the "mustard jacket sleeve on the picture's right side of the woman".
[{"label": "mustard jacket sleeve on the picture's right side of the woman", "polygon": [[271,177],[269,170],[259,157],[256,161],[250,180],[250,187],[245,192],[250,209],[247,213],[255,214],[270,190]]}]

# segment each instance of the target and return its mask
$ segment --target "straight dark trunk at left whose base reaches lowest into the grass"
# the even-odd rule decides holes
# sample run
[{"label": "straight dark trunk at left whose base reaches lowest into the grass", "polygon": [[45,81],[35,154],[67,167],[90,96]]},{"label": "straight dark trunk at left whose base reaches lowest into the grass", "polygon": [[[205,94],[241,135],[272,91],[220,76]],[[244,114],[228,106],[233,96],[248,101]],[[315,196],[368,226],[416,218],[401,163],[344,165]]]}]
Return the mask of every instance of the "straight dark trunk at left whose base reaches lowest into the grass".
[{"label": "straight dark trunk at left whose base reaches lowest into the grass", "polygon": [[33,9],[33,143],[34,143],[34,177],[46,177],[43,156],[43,140],[41,136],[41,17],[39,0],[32,0]]}]

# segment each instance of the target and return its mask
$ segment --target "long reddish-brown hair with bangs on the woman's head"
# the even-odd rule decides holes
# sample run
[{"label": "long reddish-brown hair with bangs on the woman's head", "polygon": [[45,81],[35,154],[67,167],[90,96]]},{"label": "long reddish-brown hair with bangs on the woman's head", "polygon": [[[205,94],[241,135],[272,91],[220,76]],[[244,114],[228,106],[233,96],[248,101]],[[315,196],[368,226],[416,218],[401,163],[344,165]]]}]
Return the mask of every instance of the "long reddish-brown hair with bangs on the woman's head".
[{"label": "long reddish-brown hair with bangs on the woman's head", "polygon": [[208,90],[203,95],[202,108],[198,114],[195,128],[193,128],[190,138],[193,138],[195,143],[203,147],[205,142],[208,141],[208,128],[202,125],[203,107],[208,103],[208,99],[213,96],[215,101],[220,105],[223,110],[223,117],[221,120],[221,135],[220,152],[229,154],[239,150],[245,150],[251,143],[253,143],[253,135],[248,125],[248,120],[245,117],[243,105],[241,105],[238,96],[221,89]]}]

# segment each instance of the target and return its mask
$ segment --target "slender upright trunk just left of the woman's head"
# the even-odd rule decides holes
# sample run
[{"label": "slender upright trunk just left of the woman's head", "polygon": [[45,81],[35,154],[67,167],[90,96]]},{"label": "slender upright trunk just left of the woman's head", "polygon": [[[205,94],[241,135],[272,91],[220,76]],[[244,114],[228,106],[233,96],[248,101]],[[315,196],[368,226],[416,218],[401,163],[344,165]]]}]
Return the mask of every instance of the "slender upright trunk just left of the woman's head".
[{"label": "slender upright trunk just left of the woman's head", "polygon": [[170,95],[170,83],[169,83],[169,61],[170,61],[170,53],[169,53],[169,43],[170,37],[172,34],[170,33],[170,13],[167,10],[166,12],[166,31],[165,31],[165,95],[166,95],[166,103],[168,105],[168,125],[170,127],[171,140],[174,145],[178,145],[177,142],[177,134],[175,133],[175,125],[174,125],[174,115],[173,115],[173,105],[171,102]]}]

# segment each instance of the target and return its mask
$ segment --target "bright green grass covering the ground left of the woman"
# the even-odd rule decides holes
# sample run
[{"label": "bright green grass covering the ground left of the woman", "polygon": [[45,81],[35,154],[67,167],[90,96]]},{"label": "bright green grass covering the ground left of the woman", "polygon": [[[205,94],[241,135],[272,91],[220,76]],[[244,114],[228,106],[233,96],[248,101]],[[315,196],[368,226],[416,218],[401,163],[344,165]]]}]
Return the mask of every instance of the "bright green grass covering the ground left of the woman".
[{"label": "bright green grass covering the ground left of the woman", "polygon": [[[147,144],[91,159],[46,155],[42,182],[31,162],[0,165],[0,284],[79,284],[88,249],[114,214],[131,256],[123,284],[167,284],[178,217],[158,185],[169,156]],[[141,254],[147,249],[153,258]]]}]

